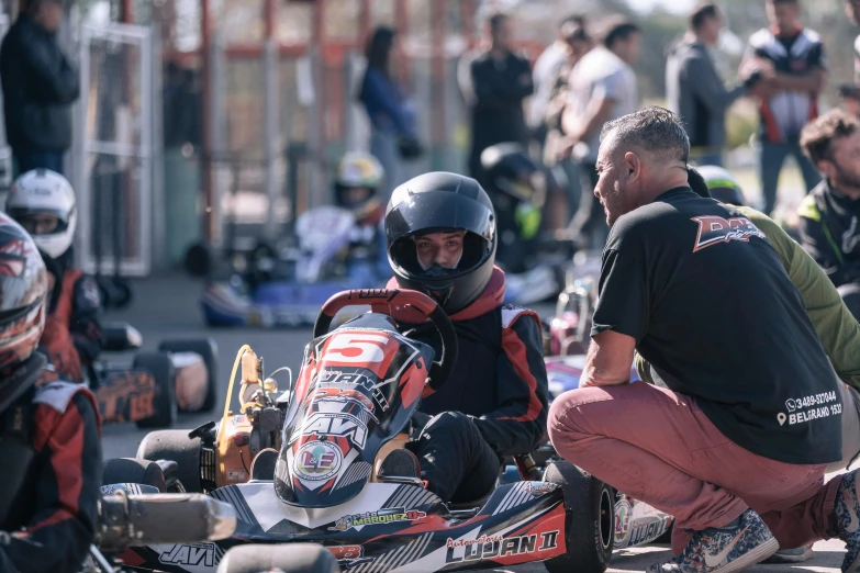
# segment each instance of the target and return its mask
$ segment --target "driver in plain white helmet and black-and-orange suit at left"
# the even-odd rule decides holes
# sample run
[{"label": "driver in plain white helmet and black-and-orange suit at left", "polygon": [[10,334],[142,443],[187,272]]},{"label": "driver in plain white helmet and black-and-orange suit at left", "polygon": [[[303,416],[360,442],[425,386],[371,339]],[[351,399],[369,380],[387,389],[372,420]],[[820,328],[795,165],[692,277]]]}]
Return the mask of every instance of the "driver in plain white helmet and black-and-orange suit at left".
[{"label": "driver in plain white helmet and black-and-orange suit at left", "polygon": [[[31,234],[48,271],[48,315],[41,345],[58,372],[83,382],[101,351],[101,301],[96,281],[72,266],[75,190],[54,171],[27,171],[12,186],[7,213]],[[88,378],[96,382],[96,377]]]}]

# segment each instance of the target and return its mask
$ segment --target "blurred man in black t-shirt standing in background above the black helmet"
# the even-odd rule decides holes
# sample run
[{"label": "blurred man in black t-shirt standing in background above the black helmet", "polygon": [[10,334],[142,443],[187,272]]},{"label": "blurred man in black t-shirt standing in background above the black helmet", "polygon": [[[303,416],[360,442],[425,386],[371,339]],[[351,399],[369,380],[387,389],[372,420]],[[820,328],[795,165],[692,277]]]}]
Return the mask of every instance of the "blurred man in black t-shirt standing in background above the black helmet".
[{"label": "blurred man in black t-shirt standing in background above the black helmet", "polygon": [[532,94],[532,67],[513,52],[513,20],[496,12],[488,20],[489,49],[460,63],[459,83],[471,114],[469,175],[482,187],[481,153],[491,145],[528,145],[523,100]]}]

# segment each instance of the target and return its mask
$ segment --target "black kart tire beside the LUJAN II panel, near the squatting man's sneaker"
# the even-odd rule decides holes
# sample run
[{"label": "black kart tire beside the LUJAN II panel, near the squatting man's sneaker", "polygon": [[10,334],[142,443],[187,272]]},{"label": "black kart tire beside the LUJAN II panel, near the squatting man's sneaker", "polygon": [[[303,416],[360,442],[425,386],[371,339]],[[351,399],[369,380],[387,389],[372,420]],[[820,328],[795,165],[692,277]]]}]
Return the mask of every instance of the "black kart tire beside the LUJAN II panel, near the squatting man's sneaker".
[{"label": "black kart tire beside the LUJAN II panel, near the squatting man's sneaker", "polygon": [[566,461],[550,463],[544,481],[565,493],[568,553],[544,565],[549,573],[603,573],[615,544],[615,491]]}]

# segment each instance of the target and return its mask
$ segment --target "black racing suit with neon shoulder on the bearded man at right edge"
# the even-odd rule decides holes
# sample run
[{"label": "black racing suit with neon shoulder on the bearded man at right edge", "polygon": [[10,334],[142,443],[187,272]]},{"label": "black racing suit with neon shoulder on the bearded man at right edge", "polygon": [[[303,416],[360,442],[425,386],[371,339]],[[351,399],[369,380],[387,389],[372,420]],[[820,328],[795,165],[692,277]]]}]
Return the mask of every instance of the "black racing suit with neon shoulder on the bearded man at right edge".
[{"label": "black racing suit with neon shoulder on the bearded man at right edge", "polygon": [[797,209],[801,244],[860,319],[860,200],[823,181]]}]

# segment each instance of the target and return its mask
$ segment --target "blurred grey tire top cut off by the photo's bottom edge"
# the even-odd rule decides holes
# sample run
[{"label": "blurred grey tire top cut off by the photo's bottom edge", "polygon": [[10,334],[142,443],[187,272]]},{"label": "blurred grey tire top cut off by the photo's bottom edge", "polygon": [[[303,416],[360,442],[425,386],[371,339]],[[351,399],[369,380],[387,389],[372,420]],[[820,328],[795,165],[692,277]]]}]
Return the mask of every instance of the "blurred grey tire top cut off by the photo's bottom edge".
[{"label": "blurred grey tire top cut off by the photo's bottom edge", "polygon": [[[277,568],[277,569],[276,569]],[[331,551],[316,543],[248,544],[224,553],[217,573],[339,573]]]}]

